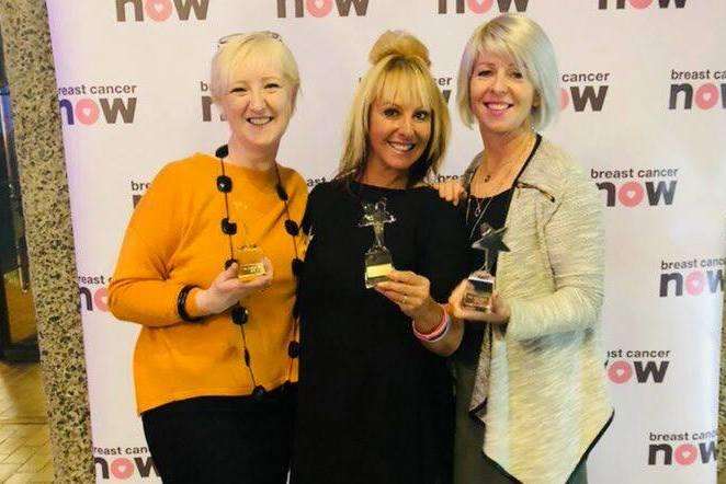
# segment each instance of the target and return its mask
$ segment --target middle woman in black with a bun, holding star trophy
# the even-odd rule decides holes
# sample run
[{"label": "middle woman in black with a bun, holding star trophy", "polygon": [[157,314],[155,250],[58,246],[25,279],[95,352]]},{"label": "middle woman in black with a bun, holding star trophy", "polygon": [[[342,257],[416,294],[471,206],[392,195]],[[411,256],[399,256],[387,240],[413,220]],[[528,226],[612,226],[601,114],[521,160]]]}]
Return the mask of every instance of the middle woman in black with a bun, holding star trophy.
[{"label": "middle woman in black with a bun, holding star trophy", "polygon": [[[310,193],[304,220],[296,484],[450,482],[452,382],[424,346],[449,327],[436,301],[466,273],[466,233],[461,214],[423,184],[449,116],[418,39],[387,32],[370,59],[339,175]],[[359,223],[363,205],[383,198],[396,270],[366,289],[374,234]]]}]

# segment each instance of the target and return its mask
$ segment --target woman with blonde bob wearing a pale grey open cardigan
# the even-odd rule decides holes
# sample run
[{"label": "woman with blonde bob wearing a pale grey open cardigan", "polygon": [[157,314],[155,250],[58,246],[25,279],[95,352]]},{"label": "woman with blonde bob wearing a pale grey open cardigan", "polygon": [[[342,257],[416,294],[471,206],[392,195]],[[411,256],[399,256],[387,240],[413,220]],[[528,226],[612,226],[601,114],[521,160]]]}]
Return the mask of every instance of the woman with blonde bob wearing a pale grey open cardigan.
[{"label": "woman with blonde bob wearing a pale grey open cardigan", "polygon": [[[601,347],[603,230],[594,185],[542,130],[559,110],[552,44],[514,14],[479,26],[458,72],[464,123],[484,150],[463,184],[472,242],[506,227],[486,312],[450,299],[453,322],[430,345],[454,355],[455,484],[585,483],[585,461],[612,420]],[[476,251],[473,251],[476,252]],[[472,268],[480,265],[474,261]]]}]

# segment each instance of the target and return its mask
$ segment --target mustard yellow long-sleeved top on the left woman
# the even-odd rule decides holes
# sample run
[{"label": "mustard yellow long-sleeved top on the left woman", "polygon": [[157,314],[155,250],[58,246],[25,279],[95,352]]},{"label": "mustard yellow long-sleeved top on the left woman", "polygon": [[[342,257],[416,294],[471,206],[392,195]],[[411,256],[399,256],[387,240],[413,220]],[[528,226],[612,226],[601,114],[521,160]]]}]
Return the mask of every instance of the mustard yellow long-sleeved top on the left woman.
[{"label": "mustard yellow long-sleeved top on the left woman", "polygon": [[[287,356],[296,287],[293,239],[284,229],[285,206],[274,188],[274,169],[225,166],[232,178],[230,218],[238,226],[234,244],[257,243],[273,265],[272,286],[242,301],[250,314],[245,329],[256,383],[270,390],[297,379],[297,364],[291,367]],[[229,258],[228,238],[220,229],[225,208],[216,188],[219,174],[219,161],[206,154],[168,164],[128,223],[109,307],[117,319],[141,324],[134,354],[139,413],[194,396],[245,395],[254,388],[242,358],[240,329],[229,311],[200,323],[183,322],[177,313],[180,289],[208,287]],[[291,169],[280,166],[280,174],[291,218],[299,223],[307,186]],[[198,314],[198,291],[192,290],[186,302],[192,316]]]}]

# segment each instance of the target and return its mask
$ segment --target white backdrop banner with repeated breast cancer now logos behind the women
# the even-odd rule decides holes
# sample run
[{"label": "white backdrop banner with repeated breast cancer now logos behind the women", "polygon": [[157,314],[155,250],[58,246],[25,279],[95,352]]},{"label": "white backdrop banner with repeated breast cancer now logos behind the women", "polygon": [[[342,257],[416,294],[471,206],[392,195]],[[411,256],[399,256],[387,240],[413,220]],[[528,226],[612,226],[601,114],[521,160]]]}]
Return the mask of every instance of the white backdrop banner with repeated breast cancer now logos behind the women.
[{"label": "white backdrop banner with repeated breast cancer now logos behind the women", "polygon": [[[138,327],[106,286],[138,198],[167,162],[214,152],[209,60],[223,35],[282,34],[302,96],[279,160],[330,180],[367,53],[387,28],[430,48],[451,102],[442,176],[480,149],[455,73],[475,26],[523,12],[555,44],[561,115],[546,136],[597,184],[606,217],[604,326],[615,419],[593,483],[715,483],[726,270],[723,0],[47,0],[78,261],[98,482],[159,482],[136,416]],[[604,357],[605,355],[603,355]]]}]

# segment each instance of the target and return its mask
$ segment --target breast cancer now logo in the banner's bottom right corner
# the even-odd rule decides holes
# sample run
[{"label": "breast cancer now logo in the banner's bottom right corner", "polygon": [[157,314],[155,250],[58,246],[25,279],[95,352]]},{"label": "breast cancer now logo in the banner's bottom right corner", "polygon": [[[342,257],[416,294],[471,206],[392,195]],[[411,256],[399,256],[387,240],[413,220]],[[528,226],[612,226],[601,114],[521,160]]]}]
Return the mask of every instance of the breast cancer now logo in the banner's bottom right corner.
[{"label": "breast cancer now logo in the banner's bottom right corner", "polygon": [[648,465],[708,464],[718,457],[717,430],[661,434],[649,433]]}]

